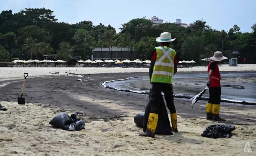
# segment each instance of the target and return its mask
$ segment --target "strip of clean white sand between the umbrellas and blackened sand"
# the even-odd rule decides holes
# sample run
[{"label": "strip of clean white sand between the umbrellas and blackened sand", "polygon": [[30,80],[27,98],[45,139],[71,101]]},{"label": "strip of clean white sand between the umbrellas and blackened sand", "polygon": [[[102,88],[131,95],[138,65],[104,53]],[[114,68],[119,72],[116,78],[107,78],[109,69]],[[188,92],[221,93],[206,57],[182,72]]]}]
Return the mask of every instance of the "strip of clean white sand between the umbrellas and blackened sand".
[{"label": "strip of clean white sand between the umbrellas and blackened sand", "polygon": [[[242,67],[232,67],[227,64],[219,66],[220,71],[256,71],[256,64],[243,64]],[[29,77],[65,75],[65,72],[77,74],[97,74],[97,73],[125,73],[125,72],[148,72],[148,68],[0,68],[0,81],[24,79],[23,73],[28,73]],[[207,71],[207,67],[178,68],[178,72]],[[59,72],[60,74],[50,74],[49,72]]]}]

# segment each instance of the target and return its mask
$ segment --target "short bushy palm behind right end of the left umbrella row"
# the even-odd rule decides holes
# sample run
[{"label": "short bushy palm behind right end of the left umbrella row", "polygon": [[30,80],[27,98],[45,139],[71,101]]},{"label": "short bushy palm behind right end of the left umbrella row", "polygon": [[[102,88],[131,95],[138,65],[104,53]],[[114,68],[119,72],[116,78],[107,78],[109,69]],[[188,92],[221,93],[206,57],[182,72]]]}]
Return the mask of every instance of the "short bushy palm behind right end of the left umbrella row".
[{"label": "short bushy palm behind right end of the left umbrella row", "polygon": [[61,42],[56,57],[69,61],[73,56],[73,50],[68,42]]}]

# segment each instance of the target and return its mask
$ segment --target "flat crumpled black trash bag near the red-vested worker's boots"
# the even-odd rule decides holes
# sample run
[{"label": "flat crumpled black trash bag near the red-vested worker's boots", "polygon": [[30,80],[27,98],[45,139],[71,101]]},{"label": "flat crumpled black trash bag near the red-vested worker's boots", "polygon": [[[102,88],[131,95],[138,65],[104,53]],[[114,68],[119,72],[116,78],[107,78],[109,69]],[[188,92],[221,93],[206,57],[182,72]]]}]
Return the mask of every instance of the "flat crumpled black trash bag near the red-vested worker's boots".
[{"label": "flat crumpled black trash bag near the red-vested worker's boots", "polygon": [[226,138],[232,137],[233,134],[231,133],[236,128],[232,125],[210,125],[206,127],[206,130],[201,134],[203,137],[208,138]]}]

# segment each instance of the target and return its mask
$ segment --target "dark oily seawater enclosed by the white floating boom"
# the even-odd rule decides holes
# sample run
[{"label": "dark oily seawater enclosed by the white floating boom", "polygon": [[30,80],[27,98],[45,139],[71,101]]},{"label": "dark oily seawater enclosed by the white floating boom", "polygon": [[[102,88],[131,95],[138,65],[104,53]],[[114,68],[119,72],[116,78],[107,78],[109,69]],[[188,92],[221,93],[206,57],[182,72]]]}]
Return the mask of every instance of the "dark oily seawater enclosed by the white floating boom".
[{"label": "dark oily seawater enclosed by the white floating boom", "polygon": [[[256,72],[223,72],[221,78],[221,98],[256,101]],[[174,75],[173,90],[175,94],[197,95],[207,81],[205,72],[179,72]],[[135,91],[150,89],[148,76],[110,82],[108,86]],[[203,96],[209,96],[209,92]]]}]

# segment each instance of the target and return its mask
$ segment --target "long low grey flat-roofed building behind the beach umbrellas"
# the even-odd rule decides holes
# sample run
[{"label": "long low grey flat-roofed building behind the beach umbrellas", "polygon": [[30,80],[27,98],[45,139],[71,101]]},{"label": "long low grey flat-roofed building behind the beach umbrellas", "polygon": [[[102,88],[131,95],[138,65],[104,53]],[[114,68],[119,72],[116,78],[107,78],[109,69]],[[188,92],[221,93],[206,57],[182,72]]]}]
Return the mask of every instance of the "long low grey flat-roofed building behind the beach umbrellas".
[{"label": "long low grey flat-roofed building behind the beach umbrellas", "polygon": [[[110,48],[95,48],[91,60],[105,60],[105,59],[118,59],[118,60],[136,60],[137,57],[134,55],[133,50],[128,50],[128,48],[112,47]],[[112,56],[111,56],[112,55]]]}]

